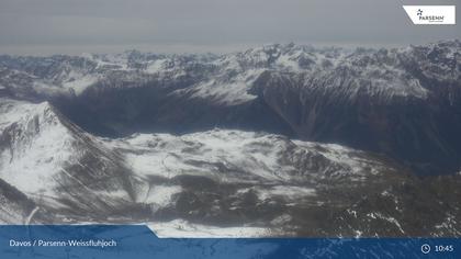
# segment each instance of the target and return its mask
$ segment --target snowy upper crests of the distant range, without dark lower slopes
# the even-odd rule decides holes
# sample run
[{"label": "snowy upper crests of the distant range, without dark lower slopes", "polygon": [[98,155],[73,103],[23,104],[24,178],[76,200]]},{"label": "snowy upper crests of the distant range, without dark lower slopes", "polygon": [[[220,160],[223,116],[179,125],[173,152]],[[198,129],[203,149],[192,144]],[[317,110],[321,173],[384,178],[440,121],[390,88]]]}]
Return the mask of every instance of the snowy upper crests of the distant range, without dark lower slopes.
[{"label": "snowy upper crests of the distant range, without dark lower slopes", "polygon": [[[306,88],[336,89],[352,99],[358,93],[382,100],[426,99],[430,92],[430,86],[424,82],[426,78],[440,82],[458,80],[460,48],[459,41],[390,49],[273,44],[222,56],[156,55],[135,50],[81,57],[1,56],[0,67],[26,72],[29,76],[25,77],[35,77],[33,80],[42,88],[47,85],[65,92],[72,90],[77,95],[114,77],[115,81],[130,82],[121,87],[185,80],[185,89],[176,94],[211,98],[234,105],[254,100],[249,93],[254,81],[262,71],[273,71],[284,77],[303,78],[302,85]],[[421,72],[415,72],[418,70]],[[34,87],[35,90],[40,88]]]}]

